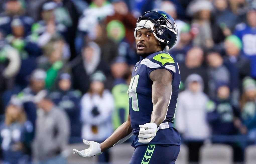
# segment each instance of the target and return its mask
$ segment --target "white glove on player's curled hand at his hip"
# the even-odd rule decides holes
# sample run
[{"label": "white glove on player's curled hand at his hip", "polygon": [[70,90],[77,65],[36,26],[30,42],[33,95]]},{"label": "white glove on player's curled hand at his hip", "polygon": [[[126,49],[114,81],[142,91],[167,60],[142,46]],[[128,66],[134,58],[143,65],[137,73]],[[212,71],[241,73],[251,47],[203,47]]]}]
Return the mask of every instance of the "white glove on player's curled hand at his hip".
[{"label": "white glove on player's curled hand at his hip", "polygon": [[148,144],[155,136],[156,132],[158,131],[159,127],[152,122],[146,123],[144,125],[140,125],[140,132],[139,132],[139,143]]}]

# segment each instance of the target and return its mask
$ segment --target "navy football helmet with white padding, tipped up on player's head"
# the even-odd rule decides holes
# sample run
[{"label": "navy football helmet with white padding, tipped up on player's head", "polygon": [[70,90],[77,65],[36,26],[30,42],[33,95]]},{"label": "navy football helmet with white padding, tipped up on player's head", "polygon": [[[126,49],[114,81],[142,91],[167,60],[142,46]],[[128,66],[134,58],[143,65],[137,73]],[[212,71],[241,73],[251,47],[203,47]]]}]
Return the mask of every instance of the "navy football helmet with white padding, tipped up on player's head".
[{"label": "navy football helmet with white padding, tipped up on player's head", "polygon": [[147,11],[142,14],[136,23],[134,37],[138,29],[150,29],[157,40],[165,45],[168,51],[177,41],[178,29],[174,19],[164,11]]}]

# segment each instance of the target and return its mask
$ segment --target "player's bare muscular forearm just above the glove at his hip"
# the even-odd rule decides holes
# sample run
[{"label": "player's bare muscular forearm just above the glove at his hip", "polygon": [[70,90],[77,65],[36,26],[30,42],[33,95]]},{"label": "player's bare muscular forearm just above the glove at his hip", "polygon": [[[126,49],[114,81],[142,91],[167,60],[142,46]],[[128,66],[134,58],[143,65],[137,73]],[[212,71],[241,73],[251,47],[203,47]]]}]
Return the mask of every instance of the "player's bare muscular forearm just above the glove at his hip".
[{"label": "player's bare muscular forearm just above the glove at his hip", "polygon": [[158,100],[157,103],[153,107],[153,111],[151,114],[151,123],[154,122],[157,126],[159,126],[165,119],[167,113],[167,106],[169,100]]}]

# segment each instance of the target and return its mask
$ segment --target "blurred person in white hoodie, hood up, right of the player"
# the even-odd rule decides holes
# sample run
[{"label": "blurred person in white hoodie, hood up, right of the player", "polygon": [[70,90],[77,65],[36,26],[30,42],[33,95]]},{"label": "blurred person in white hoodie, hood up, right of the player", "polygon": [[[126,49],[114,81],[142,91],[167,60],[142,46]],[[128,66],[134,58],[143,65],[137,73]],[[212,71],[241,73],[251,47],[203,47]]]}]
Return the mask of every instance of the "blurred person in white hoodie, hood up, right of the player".
[{"label": "blurred person in white hoodie, hood up, right of the player", "polygon": [[187,77],[185,88],[177,100],[175,127],[189,148],[189,161],[198,162],[199,148],[210,134],[206,121],[209,99],[203,92],[204,81],[198,74]]}]

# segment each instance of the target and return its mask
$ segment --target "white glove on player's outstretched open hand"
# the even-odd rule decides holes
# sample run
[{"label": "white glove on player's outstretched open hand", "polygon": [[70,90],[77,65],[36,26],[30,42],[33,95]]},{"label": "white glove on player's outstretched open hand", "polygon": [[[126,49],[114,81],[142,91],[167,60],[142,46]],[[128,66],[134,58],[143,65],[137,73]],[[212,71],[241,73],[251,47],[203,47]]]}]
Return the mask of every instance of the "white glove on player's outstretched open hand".
[{"label": "white glove on player's outstretched open hand", "polygon": [[87,141],[83,139],[83,143],[86,145],[89,145],[90,147],[88,149],[84,149],[81,151],[78,151],[77,149],[73,149],[73,154],[78,154],[81,157],[94,157],[95,155],[100,155],[101,149],[100,144],[94,141]]}]

